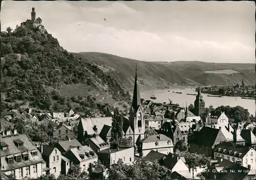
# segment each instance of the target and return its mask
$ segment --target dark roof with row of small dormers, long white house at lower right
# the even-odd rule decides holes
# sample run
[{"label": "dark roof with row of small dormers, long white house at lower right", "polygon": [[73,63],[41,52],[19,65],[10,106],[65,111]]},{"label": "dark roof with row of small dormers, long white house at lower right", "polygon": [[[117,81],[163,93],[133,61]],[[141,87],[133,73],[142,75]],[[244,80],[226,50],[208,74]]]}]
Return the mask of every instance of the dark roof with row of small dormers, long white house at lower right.
[{"label": "dark roof with row of small dormers, long white house at lower right", "polygon": [[214,148],[214,152],[237,158],[243,158],[249,150],[249,146],[234,144],[232,142],[222,142]]}]

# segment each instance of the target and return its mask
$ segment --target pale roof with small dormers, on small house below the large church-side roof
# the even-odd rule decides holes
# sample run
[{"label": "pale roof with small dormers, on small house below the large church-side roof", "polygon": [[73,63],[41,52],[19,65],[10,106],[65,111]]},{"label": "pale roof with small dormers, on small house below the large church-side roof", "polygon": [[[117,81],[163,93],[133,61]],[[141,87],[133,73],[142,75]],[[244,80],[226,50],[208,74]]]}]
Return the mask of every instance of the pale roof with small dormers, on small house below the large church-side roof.
[{"label": "pale roof with small dormers, on small house below the large church-side roof", "polygon": [[[93,151],[93,149],[89,146],[80,146],[79,149],[77,147],[71,148],[70,151],[73,153],[73,155],[76,157],[76,159],[79,162],[86,161],[89,159],[93,159],[98,157],[96,153]],[[90,151],[94,153],[94,155],[90,154]],[[86,153],[89,153],[90,156],[87,156]],[[82,159],[80,155],[84,155],[84,158]]]}]

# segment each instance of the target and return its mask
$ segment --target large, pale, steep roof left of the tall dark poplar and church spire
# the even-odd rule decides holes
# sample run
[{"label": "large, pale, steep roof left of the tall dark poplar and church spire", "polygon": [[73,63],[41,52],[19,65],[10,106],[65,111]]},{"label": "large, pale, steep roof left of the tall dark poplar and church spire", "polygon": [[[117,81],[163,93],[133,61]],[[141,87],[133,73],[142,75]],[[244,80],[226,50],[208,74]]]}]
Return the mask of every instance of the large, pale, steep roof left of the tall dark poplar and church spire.
[{"label": "large, pale, steep roof left of the tall dark poplar and church spire", "polygon": [[[83,130],[87,131],[89,135],[99,134],[104,125],[112,126],[112,117],[99,117],[99,118],[81,118]],[[97,132],[93,130],[96,125]]]}]

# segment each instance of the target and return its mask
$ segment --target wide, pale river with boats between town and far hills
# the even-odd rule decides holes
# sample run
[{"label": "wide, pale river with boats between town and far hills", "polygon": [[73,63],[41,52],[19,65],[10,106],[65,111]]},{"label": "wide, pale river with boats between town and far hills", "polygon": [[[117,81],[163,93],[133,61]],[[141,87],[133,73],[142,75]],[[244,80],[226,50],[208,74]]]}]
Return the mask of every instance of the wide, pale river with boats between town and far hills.
[{"label": "wide, pale river with boats between town and far hills", "polygon": [[[197,94],[195,88],[170,88],[170,92],[167,92],[168,89],[140,89],[140,96],[144,99],[150,99],[150,97],[154,94],[157,99],[151,99],[154,102],[166,102],[169,103],[169,100],[173,101],[173,104],[180,104],[181,107],[189,106],[190,104],[194,105],[194,101],[196,96],[194,95],[187,95],[189,94]],[[182,94],[173,93],[174,92],[182,92]],[[205,101],[205,107],[209,107],[212,105],[214,108],[218,106],[230,106],[236,107],[241,106],[245,109],[248,109],[250,114],[255,116],[256,106],[255,100],[251,99],[242,99],[241,97],[230,97],[230,96],[223,96],[223,97],[209,97],[207,94],[202,93],[203,99]]]}]

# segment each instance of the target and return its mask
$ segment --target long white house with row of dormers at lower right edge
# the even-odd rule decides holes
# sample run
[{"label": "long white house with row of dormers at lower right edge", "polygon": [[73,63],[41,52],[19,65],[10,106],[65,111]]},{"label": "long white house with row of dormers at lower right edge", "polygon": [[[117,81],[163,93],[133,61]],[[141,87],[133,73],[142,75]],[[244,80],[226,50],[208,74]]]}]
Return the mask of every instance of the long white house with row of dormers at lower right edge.
[{"label": "long white house with row of dormers at lower right edge", "polygon": [[231,162],[241,161],[244,167],[256,169],[256,151],[255,149],[232,142],[222,142],[214,148],[214,158],[222,157]]}]

